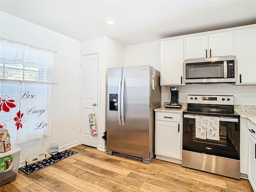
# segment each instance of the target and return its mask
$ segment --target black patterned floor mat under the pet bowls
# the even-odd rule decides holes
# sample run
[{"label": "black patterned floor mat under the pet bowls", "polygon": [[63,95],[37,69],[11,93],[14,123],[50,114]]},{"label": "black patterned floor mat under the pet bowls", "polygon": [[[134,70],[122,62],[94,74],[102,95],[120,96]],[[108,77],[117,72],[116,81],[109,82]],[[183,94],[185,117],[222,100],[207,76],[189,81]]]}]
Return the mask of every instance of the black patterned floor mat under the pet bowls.
[{"label": "black patterned floor mat under the pet bowls", "polygon": [[20,167],[19,170],[21,170],[22,172],[24,172],[27,175],[32,174],[36,171],[39,171],[43,168],[50,166],[50,165],[56,164],[58,161],[66,159],[76,153],[78,153],[78,152],[72,151],[69,149],[64,150],[62,152],[59,152],[59,154],[61,154],[61,155],[57,155],[56,158],[54,158],[54,157],[46,158],[46,159],[36,162],[34,164],[28,165],[27,167],[26,166]]}]

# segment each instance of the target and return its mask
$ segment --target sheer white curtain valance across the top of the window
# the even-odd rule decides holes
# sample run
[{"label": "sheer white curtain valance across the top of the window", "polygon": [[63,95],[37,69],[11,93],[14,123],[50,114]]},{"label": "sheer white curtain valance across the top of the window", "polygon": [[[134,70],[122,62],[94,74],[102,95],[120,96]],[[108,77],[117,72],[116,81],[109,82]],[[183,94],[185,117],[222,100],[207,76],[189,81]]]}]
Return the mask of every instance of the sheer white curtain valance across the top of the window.
[{"label": "sheer white curtain valance across the top of the window", "polygon": [[52,69],[54,66],[54,52],[0,38],[0,63]]}]

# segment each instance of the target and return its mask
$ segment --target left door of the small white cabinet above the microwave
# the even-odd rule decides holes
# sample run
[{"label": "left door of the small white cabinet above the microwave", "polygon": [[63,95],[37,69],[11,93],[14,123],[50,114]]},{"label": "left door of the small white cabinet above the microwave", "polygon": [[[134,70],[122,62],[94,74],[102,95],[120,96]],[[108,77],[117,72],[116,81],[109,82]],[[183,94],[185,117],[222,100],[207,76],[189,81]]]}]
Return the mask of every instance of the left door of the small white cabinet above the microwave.
[{"label": "left door of the small white cabinet above the microwave", "polygon": [[204,58],[208,50],[208,35],[186,38],[186,59]]}]

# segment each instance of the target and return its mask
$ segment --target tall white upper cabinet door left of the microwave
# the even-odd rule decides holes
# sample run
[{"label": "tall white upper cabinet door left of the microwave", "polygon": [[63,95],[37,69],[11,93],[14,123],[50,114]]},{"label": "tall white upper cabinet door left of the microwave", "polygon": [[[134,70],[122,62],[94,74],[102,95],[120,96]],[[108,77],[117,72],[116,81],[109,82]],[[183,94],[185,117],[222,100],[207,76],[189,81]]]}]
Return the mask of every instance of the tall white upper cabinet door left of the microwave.
[{"label": "tall white upper cabinet door left of the microwave", "polygon": [[161,42],[161,85],[180,85],[183,76],[183,39]]}]

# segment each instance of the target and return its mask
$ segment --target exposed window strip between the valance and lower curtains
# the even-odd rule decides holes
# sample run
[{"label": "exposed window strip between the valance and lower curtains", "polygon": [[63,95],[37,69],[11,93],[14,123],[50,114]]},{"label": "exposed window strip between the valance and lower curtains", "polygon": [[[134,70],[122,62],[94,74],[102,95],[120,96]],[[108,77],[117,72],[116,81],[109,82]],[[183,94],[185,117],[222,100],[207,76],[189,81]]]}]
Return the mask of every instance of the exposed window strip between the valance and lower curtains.
[{"label": "exposed window strip between the valance and lower curtains", "polygon": [[26,67],[22,64],[0,63],[0,78],[46,82],[46,69]]}]

